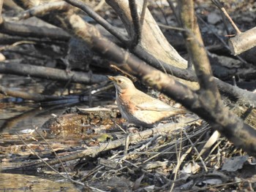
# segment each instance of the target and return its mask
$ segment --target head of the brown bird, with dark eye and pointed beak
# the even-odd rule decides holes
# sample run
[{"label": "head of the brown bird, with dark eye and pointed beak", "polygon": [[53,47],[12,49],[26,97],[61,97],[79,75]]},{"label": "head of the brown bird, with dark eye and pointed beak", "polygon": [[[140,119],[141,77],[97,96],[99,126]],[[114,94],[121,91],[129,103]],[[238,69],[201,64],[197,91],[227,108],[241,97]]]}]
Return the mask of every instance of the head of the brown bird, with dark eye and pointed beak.
[{"label": "head of the brown bird, with dark eye and pointed beak", "polygon": [[124,91],[126,91],[129,88],[135,88],[135,85],[133,85],[132,81],[129,80],[127,77],[124,76],[108,76],[108,78],[110,80],[113,81],[115,87],[116,87],[116,91],[118,93],[123,93]]}]

